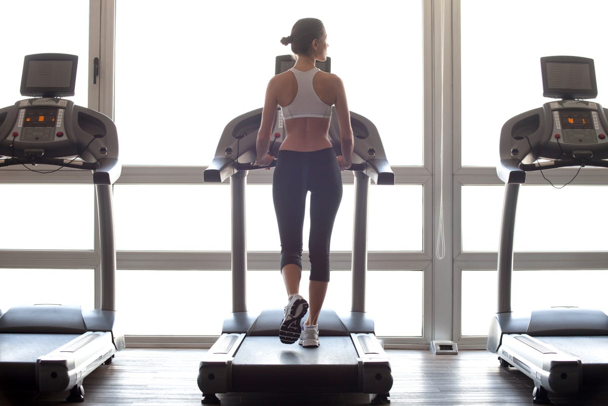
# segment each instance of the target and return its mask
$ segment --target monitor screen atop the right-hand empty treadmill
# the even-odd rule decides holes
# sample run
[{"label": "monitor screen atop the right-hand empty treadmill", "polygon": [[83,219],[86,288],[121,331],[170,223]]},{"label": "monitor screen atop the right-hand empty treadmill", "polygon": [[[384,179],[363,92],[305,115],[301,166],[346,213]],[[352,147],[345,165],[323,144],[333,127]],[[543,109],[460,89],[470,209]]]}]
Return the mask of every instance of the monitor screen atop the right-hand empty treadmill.
[{"label": "monitor screen atop the right-hand empty treadmill", "polygon": [[593,60],[582,57],[542,57],[544,97],[575,99],[598,95]]}]

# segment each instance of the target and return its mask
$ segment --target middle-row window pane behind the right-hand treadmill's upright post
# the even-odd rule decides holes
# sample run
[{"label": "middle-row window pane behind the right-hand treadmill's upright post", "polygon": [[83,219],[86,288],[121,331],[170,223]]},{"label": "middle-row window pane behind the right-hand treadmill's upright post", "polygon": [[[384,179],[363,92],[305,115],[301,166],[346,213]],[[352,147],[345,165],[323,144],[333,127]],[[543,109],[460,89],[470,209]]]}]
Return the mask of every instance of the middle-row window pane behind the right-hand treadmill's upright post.
[{"label": "middle-row window pane behind the right-hand treadmill's upright post", "polygon": [[[503,185],[463,186],[463,251],[498,250],[504,191]],[[523,185],[517,201],[513,249],[608,250],[602,231],[608,227],[608,219],[596,210],[607,199],[606,186],[568,185],[558,189],[550,185]]]}]

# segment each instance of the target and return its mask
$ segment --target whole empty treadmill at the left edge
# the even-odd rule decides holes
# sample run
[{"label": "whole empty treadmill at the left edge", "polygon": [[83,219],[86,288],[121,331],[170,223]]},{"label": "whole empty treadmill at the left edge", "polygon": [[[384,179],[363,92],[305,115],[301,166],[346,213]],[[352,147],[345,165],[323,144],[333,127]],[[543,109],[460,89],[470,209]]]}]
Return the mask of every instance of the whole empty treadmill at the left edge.
[{"label": "whole empty treadmill at the left edge", "polygon": [[69,402],[83,401],[85,377],[125,347],[123,335],[114,330],[112,184],[121,169],[116,126],[105,115],[61,98],[74,95],[77,63],[75,55],[27,55],[21,94],[33,98],[0,109],[0,167],[92,172],[101,307],[85,311],[80,306],[45,304],[0,311],[0,382],[41,392],[69,390]]}]

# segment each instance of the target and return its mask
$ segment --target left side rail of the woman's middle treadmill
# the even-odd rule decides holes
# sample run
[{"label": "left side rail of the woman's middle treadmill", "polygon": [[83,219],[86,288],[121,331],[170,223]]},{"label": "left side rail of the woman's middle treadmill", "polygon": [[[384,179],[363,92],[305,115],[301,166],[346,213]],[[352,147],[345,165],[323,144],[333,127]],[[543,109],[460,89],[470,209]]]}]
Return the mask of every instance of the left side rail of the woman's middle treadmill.
[{"label": "left side rail of the woman's middle treadmill", "polygon": [[203,394],[227,393],[232,389],[232,361],[245,339],[244,333],[224,333],[199,364],[196,382]]}]

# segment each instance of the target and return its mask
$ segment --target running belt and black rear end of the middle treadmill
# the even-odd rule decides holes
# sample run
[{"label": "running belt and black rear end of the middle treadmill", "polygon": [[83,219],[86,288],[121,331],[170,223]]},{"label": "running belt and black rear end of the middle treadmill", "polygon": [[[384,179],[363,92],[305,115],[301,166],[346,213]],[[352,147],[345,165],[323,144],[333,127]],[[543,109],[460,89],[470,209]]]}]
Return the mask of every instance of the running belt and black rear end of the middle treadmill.
[{"label": "running belt and black rear end of the middle treadmill", "polygon": [[[359,391],[357,353],[350,337],[321,337],[319,348],[248,336],[232,362],[231,391]],[[331,366],[328,368],[328,366]]]}]

